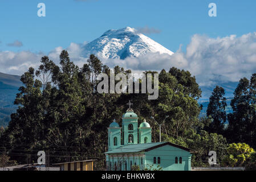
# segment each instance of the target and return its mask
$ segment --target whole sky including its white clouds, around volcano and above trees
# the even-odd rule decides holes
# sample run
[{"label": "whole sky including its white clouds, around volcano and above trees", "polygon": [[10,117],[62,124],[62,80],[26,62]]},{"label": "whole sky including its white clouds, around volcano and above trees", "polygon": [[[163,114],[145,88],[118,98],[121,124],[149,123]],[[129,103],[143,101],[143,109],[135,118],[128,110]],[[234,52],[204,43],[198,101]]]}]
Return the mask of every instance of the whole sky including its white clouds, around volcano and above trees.
[{"label": "whole sky including its white clouds, around volcano and above trees", "polygon": [[[38,3],[46,5],[46,17],[38,17]],[[216,3],[217,17],[208,15],[209,3]],[[0,72],[22,75],[44,55],[58,64],[62,49],[82,67],[81,44],[129,26],[156,30],[145,35],[174,54],[101,59],[104,64],[134,72],[177,67],[202,88],[223,85],[232,93],[230,85],[256,73],[255,7],[255,0],[1,0]]]}]

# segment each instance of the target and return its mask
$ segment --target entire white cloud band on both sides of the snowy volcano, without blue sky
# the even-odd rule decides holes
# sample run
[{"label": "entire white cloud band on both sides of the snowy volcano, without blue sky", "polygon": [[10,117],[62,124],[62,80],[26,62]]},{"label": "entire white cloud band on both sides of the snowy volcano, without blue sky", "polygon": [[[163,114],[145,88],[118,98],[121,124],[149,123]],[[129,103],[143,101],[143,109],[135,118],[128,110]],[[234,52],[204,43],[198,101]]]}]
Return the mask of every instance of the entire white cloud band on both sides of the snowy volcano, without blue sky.
[{"label": "entire white cloud band on both sides of the snowy volcano, without blue sky", "polygon": [[[85,43],[83,43],[85,44]],[[82,67],[87,63],[87,57],[82,56],[83,44],[71,43],[67,47],[71,60]],[[48,53],[50,59],[59,63],[59,54],[63,47],[56,47]],[[0,52],[0,72],[22,75],[27,69],[37,67],[43,53],[29,51]],[[242,77],[249,78],[256,72],[256,33],[249,33],[237,37],[235,35],[224,38],[209,38],[204,35],[194,35],[186,47],[186,52],[179,49],[172,56],[159,53],[148,53],[140,57],[120,59],[101,59],[110,68],[115,65],[132,69],[140,73],[145,70],[169,71],[170,67],[188,70],[196,76],[201,86],[215,86],[216,84],[239,81]]]}]

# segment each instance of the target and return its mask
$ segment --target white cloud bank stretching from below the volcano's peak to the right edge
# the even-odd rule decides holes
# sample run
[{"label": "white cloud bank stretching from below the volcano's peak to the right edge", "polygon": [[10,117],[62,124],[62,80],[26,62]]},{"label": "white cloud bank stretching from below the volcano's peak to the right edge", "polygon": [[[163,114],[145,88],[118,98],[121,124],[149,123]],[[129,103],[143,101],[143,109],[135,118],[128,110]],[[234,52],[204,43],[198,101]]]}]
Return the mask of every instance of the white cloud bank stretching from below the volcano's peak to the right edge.
[{"label": "white cloud bank stretching from below the volcano's peak to the right edge", "polygon": [[190,71],[201,86],[237,82],[256,72],[256,33],[224,38],[194,35],[186,52],[179,49],[172,56],[149,53],[138,58],[105,60],[105,63],[136,71],[160,71],[162,68],[169,71],[170,67],[177,67]]}]

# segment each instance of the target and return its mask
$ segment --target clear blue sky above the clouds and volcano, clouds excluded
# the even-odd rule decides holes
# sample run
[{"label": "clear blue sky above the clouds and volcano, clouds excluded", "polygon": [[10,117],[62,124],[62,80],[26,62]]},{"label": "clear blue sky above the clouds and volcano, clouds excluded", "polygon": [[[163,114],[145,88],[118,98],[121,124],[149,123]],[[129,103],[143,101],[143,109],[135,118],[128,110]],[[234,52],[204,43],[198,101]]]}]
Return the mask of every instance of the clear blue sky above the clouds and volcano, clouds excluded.
[{"label": "clear blue sky above the clouds and volcano, clouds excluded", "polygon": [[[37,16],[38,3],[46,17]],[[208,16],[208,5],[217,5],[217,17]],[[71,42],[90,42],[109,29],[151,27],[161,32],[147,35],[175,52],[185,50],[194,34],[210,38],[256,30],[256,1],[231,0],[1,0],[0,51],[48,53]],[[21,47],[7,46],[18,40]]]}]

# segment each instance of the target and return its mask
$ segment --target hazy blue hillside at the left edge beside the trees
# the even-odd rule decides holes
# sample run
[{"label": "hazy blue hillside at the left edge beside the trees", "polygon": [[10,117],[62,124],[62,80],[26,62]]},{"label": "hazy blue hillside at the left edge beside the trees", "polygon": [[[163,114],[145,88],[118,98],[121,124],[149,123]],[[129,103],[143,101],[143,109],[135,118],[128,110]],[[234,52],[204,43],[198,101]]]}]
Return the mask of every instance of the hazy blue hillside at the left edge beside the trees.
[{"label": "hazy blue hillside at the left edge beside the trees", "polygon": [[0,126],[8,126],[10,114],[14,113],[16,94],[22,85],[21,76],[0,73]]}]

